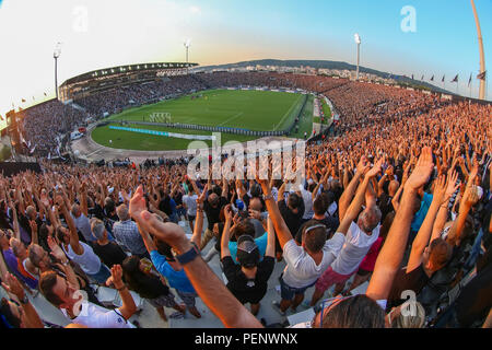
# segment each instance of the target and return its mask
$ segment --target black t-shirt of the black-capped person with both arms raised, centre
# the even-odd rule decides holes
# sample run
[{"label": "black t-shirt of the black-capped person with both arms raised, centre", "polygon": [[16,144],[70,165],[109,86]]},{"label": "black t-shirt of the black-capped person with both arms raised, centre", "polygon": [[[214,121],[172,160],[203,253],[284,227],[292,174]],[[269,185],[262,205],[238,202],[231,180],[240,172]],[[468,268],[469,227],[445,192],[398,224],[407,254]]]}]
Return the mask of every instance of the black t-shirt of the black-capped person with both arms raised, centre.
[{"label": "black t-shirt of the black-capped person with both arms raised, centre", "polygon": [[222,259],[224,275],[227,278],[227,288],[237,300],[245,303],[257,304],[265,296],[268,289],[268,279],[273,272],[274,259],[270,256],[263,257],[258,264],[255,279],[249,280],[241,270],[241,266],[234,264],[231,256]]}]

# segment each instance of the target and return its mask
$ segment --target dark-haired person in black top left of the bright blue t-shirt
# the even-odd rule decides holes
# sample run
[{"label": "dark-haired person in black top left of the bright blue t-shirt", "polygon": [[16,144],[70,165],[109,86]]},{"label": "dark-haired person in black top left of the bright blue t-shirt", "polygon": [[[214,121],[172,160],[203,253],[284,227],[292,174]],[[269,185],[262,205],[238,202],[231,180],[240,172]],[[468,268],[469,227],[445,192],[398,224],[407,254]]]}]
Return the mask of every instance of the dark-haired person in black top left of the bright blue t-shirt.
[{"label": "dark-haired person in black top left of the bright blue t-shirt", "polygon": [[185,305],[178,305],[174,300],[174,294],[166,285],[165,280],[152,272],[144,272],[145,266],[136,255],[129,256],[122,264],[124,278],[128,288],[137,292],[140,296],[149,300],[149,302],[157,310],[162,319],[167,322],[164,306],[173,307],[178,313],[176,316],[184,316]]}]

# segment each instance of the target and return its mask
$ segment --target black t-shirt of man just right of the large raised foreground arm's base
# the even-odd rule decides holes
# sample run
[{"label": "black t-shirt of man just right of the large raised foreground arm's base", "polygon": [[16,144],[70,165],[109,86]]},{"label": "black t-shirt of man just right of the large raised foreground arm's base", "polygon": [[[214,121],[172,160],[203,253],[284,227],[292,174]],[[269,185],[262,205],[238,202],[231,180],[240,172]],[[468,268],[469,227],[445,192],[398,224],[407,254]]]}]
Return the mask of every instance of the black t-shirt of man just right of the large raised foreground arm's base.
[{"label": "black t-shirt of man just right of the large raised foreground arm's base", "polygon": [[418,268],[407,273],[407,268],[400,269],[395,280],[393,281],[391,291],[389,292],[387,311],[391,307],[401,305],[406,300],[401,299],[401,293],[403,291],[410,290],[415,292],[418,295],[425,284],[429,282],[429,277],[425,273],[422,264]]}]

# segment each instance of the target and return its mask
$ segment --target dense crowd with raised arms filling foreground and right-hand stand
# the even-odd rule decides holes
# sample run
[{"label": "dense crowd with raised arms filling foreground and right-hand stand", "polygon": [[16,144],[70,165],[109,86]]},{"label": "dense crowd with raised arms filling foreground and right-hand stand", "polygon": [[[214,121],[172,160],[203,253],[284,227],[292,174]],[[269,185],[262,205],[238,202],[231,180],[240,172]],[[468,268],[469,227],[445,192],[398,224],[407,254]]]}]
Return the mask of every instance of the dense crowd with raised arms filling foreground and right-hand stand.
[{"label": "dense crowd with raised arms filling foreground and right-hand stand", "polygon": [[[341,131],[307,145],[300,183],[271,163],[269,178],[200,179],[184,160],[2,176],[3,324],[49,326],[27,298],[39,291],[77,327],[138,326],[132,293],[163,319],[200,318],[200,298],[226,327],[274,326],[260,307],[314,307],[294,327],[491,327],[492,106],[376,86],[324,92]],[[106,308],[101,288],[122,305]]]}]

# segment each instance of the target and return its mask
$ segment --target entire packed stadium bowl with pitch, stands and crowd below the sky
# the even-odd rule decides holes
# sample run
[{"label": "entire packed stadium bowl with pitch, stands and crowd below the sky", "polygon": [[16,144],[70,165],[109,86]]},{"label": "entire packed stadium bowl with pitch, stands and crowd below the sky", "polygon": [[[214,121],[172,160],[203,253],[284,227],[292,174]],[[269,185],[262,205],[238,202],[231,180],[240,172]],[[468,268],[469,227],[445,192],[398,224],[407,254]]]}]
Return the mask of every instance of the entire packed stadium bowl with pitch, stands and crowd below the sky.
[{"label": "entire packed stadium bowl with pitch, stands and crowd below the sky", "polygon": [[60,84],[57,47],[55,97],[2,117],[2,326],[492,327],[483,47],[459,94],[355,44],[203,65],[186,40]]}]

